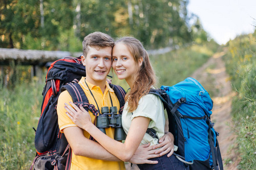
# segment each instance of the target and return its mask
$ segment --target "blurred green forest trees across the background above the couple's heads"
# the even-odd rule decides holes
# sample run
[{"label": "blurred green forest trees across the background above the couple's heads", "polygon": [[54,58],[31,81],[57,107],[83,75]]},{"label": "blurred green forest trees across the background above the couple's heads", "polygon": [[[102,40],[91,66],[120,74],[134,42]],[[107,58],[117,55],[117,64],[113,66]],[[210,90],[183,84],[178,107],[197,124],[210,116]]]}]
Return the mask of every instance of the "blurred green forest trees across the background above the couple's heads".
[{"label": "blurred green forest trees across the background above the couple's heads", "polygon": [[[188,0],[6,0],[0,3],[0,46],[80,51],[74,44],[94,31],[134,36],[151,49],[181,46],[193,37],[200,41],[208,36],[188,24],[192,18],[187,4]],[[195,25],[201,27],[200,22]]]}]

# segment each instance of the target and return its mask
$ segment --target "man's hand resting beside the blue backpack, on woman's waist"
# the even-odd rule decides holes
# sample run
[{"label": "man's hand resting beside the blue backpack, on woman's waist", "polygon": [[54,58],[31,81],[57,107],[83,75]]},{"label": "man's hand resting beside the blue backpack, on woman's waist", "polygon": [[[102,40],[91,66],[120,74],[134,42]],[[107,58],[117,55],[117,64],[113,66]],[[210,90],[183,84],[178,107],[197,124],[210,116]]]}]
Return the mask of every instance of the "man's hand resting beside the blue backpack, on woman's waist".
[{"label": "man's hand resting beside the blue backpack, on woman's waist", "polygon": [[169,152],[167,156],[170,157],[174,153],[174,135],[170,132],[164,134],[163,137],[159,139],[159,144],[152,146],[153,150],[156,148],[159,149],[155,150],[155,154],[163,156]]}]

